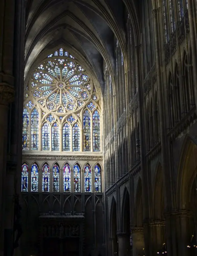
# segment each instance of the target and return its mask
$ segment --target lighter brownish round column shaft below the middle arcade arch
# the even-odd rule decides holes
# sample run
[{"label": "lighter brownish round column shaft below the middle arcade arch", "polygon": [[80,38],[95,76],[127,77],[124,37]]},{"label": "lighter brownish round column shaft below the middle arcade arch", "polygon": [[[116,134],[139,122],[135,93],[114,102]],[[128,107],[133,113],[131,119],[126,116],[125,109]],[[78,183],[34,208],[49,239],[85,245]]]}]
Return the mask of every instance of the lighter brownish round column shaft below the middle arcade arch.
[{"label": "lighter brownish round column shaft below the middle arcade arch", "polygon": [[134,227],[131,229],[133,238],[133,256],[141,255],[144,248],[143,227]]}]

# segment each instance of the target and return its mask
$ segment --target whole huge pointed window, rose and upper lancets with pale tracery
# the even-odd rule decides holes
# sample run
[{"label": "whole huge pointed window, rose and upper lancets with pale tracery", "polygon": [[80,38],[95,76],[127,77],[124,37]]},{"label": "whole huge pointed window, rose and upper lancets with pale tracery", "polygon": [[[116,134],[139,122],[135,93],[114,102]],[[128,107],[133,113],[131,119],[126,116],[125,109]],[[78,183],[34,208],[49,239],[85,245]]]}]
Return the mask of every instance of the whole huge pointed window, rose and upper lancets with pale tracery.
[{"label": "whole huge pointed window, rose and upper lancets with pale tracery", "polygon": [[[63,48],[48,55],[33,72],[24,106],[23,150],[100,151],[99,94],[90,75]],[[89,113],[85,120],[83,113]]]}]

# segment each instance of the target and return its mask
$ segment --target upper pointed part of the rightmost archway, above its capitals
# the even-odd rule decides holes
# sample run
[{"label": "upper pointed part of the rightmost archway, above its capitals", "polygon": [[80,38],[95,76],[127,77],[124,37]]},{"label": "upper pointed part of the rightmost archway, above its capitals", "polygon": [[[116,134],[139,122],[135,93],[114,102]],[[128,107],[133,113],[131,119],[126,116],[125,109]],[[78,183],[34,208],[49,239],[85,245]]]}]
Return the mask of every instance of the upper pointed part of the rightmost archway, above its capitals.
[{"label": "upper pointed part of the rightmost archway, above its capitals", "polygon": [[197,141],[186,134],[178,166],[177,176],[177,206],[178,209],[187,210],[191,185],[195,178],[197,168]]}]

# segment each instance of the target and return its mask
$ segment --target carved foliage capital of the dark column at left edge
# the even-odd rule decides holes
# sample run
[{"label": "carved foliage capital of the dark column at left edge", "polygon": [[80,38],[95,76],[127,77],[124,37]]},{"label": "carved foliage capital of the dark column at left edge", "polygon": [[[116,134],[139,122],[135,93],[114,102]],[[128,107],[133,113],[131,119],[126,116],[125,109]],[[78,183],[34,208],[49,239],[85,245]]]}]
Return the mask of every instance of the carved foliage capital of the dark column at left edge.
[{"label": "carved foliage capital of the dark column at left edge", "polygon": [[14,87],[6,83],[0,83],[0,104],[8,105],[14,101]]}]

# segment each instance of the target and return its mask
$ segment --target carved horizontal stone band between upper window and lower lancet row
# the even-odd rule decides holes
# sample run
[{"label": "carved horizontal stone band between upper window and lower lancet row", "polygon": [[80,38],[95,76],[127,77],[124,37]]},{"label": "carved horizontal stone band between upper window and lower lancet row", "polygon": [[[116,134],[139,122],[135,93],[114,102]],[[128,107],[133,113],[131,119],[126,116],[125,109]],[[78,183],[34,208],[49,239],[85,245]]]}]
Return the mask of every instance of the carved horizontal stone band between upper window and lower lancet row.
[{"label": "carved horizontal stone band between upper window and lower lancet row", "polygon": [[23,160],[85,160],[102,161],[102,156],[65,156],[65,155],[23,155]]}]

